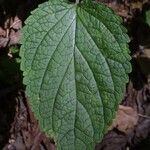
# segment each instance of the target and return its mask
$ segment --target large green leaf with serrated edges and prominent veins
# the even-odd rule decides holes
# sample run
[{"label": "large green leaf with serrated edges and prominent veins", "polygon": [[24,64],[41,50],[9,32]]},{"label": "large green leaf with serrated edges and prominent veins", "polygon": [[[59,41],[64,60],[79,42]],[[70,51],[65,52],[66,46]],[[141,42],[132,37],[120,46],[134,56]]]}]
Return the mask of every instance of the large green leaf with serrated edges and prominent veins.
[{"label": "large green leaf with serrated edges and prominent veins", "polygon": [[23,28],[26,93],[57,149],[93,150],[123,98],[129,38],[112,10],[92,1],[51,0]]}]

